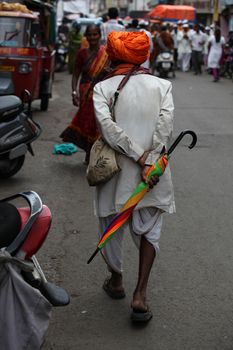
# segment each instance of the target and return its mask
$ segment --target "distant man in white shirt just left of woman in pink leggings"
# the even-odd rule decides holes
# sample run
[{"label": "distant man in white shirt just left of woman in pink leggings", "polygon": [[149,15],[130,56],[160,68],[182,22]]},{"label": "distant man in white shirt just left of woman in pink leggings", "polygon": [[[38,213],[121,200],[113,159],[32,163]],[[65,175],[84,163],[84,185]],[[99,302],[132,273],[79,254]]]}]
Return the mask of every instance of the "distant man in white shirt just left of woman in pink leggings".
[{"label": "distant man in white shirt just left of woman in pink leggings", "polygon": [[203,46],[205,44],[204,33],[200,31],[199,24],[194,26],[195,33],[191,35],[192,66],[194,75],[202,74]]}]

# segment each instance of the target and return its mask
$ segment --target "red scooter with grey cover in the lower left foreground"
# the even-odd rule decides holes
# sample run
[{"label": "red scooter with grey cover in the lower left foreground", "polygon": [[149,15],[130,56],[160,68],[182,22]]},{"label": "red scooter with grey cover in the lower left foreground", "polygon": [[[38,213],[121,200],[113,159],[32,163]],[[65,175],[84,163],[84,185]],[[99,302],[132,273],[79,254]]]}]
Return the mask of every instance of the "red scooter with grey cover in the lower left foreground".
[{"label": "red scooter with grey cover in the lower left foreground", "polygon": [[[22,199],[26,207],[13,204]],[[35,256],[49,232],[51,212],[28,191],[0,200],[0,213],[1,347],[39,350],[52,306],[70,302],[63,288],[47,281]]]}]

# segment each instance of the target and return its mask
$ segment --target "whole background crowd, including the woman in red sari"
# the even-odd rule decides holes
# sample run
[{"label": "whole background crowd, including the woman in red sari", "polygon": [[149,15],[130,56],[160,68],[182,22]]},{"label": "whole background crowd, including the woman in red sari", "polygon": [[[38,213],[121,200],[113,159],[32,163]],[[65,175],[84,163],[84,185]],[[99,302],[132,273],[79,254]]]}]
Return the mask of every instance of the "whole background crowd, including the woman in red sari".
[{"label": "whole background crowd, including the woman in red sari", "polygon": [[118,10],[114,7],[109,9],[108,16],[103,17],[100,26],[89,25],[85,33],[81,33],[80,29],[80,25],[74,22],[68,33],[68,68],[72,74],[72,101],[78,107],[78,111],[62,132],[61,138],[85,150],[86,164],[89,161],[91,146],[98,137],[92,101],[93,88],[110,70],[105,50],[109,33],[145,32],[149,38],[150,49],[147,60],[141,66],[152,74],[158,73],[158,56],[163,52],[170,52],[175,70],[192,71],[194,75],[202,74],[205,70],[209,74],[212,73],[214,82],[220,79],[224,48],[232,45],[231,37],[226,40],[216,25],[204,27],[183,20],[173,24],[149,26],[146,20],[136,18],[126,25],[119,20]]}]

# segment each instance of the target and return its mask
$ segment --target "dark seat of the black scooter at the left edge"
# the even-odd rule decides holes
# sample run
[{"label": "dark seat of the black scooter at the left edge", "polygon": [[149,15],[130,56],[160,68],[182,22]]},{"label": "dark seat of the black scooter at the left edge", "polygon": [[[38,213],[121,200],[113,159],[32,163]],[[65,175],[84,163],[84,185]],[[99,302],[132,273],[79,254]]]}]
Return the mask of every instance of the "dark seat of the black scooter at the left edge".
[{"label": "dark seat of the black scooter at the left edge", "polygon": [[14,95],[0,96],[0,121],[4,121],[23,110],[22,101]]}]

